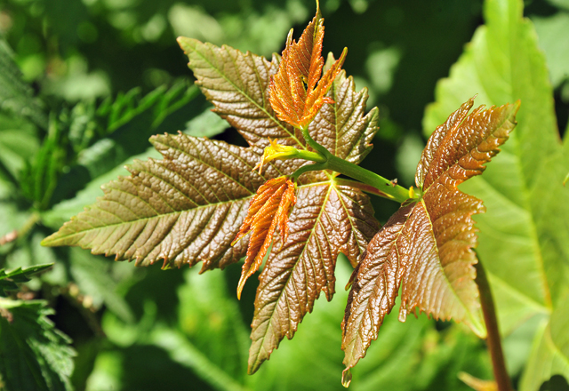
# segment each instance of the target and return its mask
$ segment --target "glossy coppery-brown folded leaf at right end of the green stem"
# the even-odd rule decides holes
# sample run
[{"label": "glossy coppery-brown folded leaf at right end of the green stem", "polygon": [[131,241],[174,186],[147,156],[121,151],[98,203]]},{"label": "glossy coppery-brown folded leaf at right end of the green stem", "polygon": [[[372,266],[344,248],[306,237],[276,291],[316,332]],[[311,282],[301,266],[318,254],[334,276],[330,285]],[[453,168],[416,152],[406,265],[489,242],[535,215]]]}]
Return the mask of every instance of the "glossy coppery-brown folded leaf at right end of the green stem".
[{"label": "glossy coppery-brown folded leaf at right end of the green stem", "polygon": [[415,183],[419,202],[404,204],[369,243],[351,277],[342,323],[345,383],[349,369],[365,355],[401,287],[399,320],[421,312],[436,319],[464,322],[485,335],[472,251],[477,244],[472,215],[482,202],[457,188],[481,174],[508,140],[519,104],[484,110],[474,98],[437,127],[423,150]]}]

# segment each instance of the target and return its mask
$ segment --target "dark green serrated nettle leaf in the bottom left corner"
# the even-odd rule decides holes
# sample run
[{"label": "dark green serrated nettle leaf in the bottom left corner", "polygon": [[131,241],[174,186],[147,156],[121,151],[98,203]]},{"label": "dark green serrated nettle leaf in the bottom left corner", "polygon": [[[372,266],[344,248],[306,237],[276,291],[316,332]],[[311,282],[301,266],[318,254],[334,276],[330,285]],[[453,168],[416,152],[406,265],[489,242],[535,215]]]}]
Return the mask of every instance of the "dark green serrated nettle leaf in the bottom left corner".
[{"label": "dark green serrated nettle leaf in the bottom left corner", "polygon": [[0,375],[6,391],[71,390],[75,351],[44,300],[0,299]]}]

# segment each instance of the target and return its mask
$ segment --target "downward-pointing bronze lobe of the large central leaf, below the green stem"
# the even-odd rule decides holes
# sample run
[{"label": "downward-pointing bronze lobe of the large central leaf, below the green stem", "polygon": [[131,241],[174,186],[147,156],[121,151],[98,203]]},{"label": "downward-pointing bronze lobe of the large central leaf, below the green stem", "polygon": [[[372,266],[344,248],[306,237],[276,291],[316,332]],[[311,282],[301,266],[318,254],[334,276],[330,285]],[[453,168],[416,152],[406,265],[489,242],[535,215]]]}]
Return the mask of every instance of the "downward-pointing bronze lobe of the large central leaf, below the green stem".
[{"label": "downward-pointing bronze lobe of the large central leaf, below the green stem", "polygon": [[281,249],[281,239],[276,237],[259,277],[250,373],[259,369],[284,336],[293,338],[320,291],[332,299],[338,253],[345,253],[355,264],[379,227],[368,196],[333,180],[299,187],[297,198],[288,238]]}]

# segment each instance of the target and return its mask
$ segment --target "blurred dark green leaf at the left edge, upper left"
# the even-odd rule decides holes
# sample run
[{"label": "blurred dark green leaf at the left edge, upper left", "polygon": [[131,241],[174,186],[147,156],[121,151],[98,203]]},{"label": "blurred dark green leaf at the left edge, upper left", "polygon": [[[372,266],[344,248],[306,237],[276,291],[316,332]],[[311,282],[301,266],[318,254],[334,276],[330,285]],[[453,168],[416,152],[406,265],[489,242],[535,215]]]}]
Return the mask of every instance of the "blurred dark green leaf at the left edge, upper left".
[{"label": "blurred dark green leaf at the left edge, upper left", "polygon": [[47,117],[33,96],[32,89],[21,79],[20,68],[4,38],[0,38],[0,109],[28,118],[46,129]]}]

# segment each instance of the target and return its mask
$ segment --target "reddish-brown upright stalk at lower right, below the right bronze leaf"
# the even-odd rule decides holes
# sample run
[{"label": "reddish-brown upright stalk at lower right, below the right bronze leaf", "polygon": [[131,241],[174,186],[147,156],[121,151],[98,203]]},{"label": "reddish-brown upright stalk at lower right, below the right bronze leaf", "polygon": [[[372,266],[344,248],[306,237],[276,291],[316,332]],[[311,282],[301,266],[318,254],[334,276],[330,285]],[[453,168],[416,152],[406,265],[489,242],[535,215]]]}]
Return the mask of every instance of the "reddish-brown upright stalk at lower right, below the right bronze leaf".
[{"label": "reddish-brown upright stalk at lower right, below the right bronze leaf", "polygon": [[477,284],[480,291],[480,303],[484,314],[486,324],[486,344],[488,345],[488,353],[492,359],[492,369],[494,379],[498,391],[512,391],[512,383],[506,370],[506,362],[504,361],[504,353],[501,348],[500,330],[498,328],[498,318],[496,317],[496,309],[490,284],[486,276],[485,268],[478,261],[477,265]]}]

